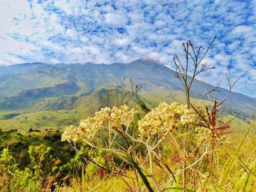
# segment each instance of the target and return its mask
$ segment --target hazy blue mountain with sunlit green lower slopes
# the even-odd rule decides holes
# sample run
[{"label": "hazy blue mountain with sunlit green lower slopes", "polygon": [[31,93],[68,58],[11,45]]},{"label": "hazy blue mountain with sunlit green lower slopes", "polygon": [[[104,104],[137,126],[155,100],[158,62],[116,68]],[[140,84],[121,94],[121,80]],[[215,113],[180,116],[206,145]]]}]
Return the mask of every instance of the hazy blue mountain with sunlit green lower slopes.
[{"label": "hazy blue mountain with sunlit green lower slopes", "polygon": [[[175,71],[150,58],[110,65],[27,63],[0,67],[0,124],[24,130],[29,126],[63,127],[104,107],[102,99],[106,98],[107,89],[114,88],[121,96],[122,89],[130,89],[130,79],[134,86],[143,84],[139,97],[152,107],[161,101],[173,101],[170,92],[184,103],[184,87],[177,78],[171,77],[174,74]],[[197,98],[204,90],[213,88],[205,83],[198,90],[199,83],[195,80],[191,88],[192,96],[196,94]],[[219,88],[219,91],[216,98],[221,100],[228,90]],[[236,108],[238,113],[254,114],[256,98],[231,92],[224,105],[228,108],[226,111]],[[49,124],[51,119],[54,123]]]}]

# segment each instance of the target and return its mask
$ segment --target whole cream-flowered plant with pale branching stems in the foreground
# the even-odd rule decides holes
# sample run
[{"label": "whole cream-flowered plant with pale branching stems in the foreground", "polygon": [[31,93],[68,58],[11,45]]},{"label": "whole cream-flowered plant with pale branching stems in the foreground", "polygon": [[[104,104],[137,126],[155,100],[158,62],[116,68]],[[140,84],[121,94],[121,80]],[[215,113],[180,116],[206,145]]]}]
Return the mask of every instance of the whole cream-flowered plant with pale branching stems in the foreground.
[{"label": "whole cream-flowered plant with pale branching stems in the foreground", "polygon": [[[146,175],[150,177],[155,189],[162,191],[168,186],[168,183],[175,179],[175,176],[184,171],[184,169],[182,169],[175,175],[173,174],[173,177],[168,179],[162,186],[159,186],[157,183],[153,162],[155,160],[161,161],[161,158],[157,154],[157,149],[159,149],[158,147],[160,145],[164,145],[166,137],[173,138],[172,133],[182,126],[191,125],[195,127],[195,136],[198,139],[198,145],[203,146],[203,152],[199,159],[185,167],[185,169],[189,169],[201,161],[206,154],[211,152],[208,151],[209,143],[216,143],[217,140],[222,141],[225,138],[225,135],[221,137],[214,136],[211,129],[207,129],[207,126],[201,125],[200,127],[198,124],[198,116],[196,115],[198,111],[188,109],[186,105],[180,105],[177,102],[171,103],[170,105],[160,103],[157,108],[148,112],[148,114],[137,121],[136,124],[135,114],[137,113],[137,110],[129,110],[129,107],[126,105],[121,105],[119,108],[115,106],[112,109],[109,107],[102,108],[99,112],[96,112],[93,117],[81,120],[78,127],[74,127],[73,125],[66,127],[65,132],[62,134],[61,141],[73,143],[83,141],[97,150],[111,152],[123,161],[136,165],[135,168],[149,190],[152,190],[152,187]],[[199,116],[201,115],[199,114]],[[97,143],[94,143],[94,137],[98,132],[103,130],[108,134],[108,143],[106,147],[99,147]],[[127,141],[127,146],[121,146],[121,149],[113,147],[113,143],[116,143],[118,133]],[[216,139],[213,140],[213,138]],[[141,149],[146,149],[146,151],[143,152],[146,156],[143,158],[139,157],[138,153],[135,151],[137,148],[135,146],[138,145],[144,146],[141,147]],[[145,162],[148,162],[150,171],[147,170],[147,163]]]}]

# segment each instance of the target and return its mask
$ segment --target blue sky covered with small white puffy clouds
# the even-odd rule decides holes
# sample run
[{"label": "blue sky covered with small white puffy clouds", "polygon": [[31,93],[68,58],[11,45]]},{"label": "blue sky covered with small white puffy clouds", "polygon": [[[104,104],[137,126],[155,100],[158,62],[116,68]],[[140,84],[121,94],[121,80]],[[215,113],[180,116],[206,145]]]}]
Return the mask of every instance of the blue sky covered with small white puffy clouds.
[{"label": "blue sky covered with small white puffy clouds", "polygon": [[256,0],[0,1],[0,65],[149,57],[175,69],[183,42],[203,54],[215,36],[202,61],[216,67],[207,83],[228,88],[231,69],[232,82],[240,78],[232,90],[256,97]]}]

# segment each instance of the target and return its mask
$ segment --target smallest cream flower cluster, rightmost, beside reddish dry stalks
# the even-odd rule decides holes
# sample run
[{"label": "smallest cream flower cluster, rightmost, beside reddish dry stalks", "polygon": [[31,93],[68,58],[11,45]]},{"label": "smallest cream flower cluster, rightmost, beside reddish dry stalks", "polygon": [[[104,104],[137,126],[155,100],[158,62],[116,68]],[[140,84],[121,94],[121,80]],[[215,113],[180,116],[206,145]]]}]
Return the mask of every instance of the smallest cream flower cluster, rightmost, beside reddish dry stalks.
[{"label": "smallest cream flower cluster, rightmost, beside reddish dry stalks", "polygon": [[229,138],[226,137],[219,129],[211,129],[207,127],[196,127],[195,136],[198,138],[198,146],[201,146],[202,144],[209,144],[213,143],[215,145],[224,145],[226,143],[229,143]]}]

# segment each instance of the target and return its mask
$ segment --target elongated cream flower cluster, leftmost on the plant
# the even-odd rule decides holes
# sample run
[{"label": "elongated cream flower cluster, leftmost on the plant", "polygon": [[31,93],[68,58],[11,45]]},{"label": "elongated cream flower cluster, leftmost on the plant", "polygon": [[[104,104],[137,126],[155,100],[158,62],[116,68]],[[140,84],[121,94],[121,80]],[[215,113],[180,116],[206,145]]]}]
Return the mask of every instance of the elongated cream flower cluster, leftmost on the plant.
[{"label": "elongated cream flower cluster, leftmost on the plant", "polygon": [[95,113],[94,117],[88,117],[81,120],[78,127],[70,125],[66,127],[65,132],[61,136],[61,141],[74,141],[79,139],[92,139],[96,132],[100,131],[104,124],[110,125],[112,130],[122,129],[122,125],[128,126],[134,122],[134,115],[137,113],[134,109],[129,111],[129,107],[124,105],[120,109],[113,107],[102,108],[99,112]]}]

